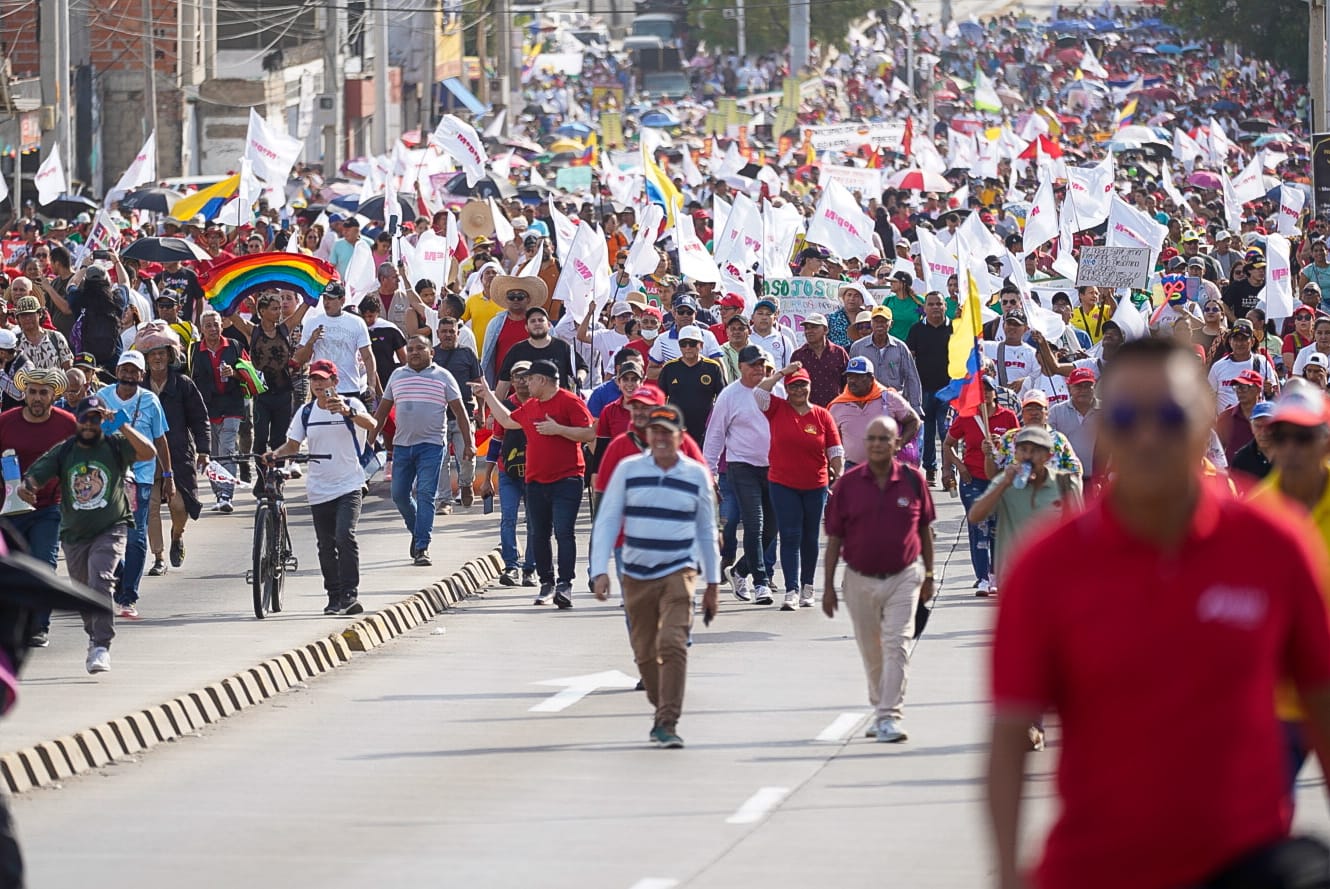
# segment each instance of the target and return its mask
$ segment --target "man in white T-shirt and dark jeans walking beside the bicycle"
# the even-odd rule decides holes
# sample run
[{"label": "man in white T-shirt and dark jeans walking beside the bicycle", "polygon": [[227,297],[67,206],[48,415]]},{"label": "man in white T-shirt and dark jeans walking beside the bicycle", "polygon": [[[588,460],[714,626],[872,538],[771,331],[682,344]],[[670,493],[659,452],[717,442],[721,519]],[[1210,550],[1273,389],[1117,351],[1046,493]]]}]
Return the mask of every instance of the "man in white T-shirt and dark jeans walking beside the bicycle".
[{"label": "man in white T-shirt and dark jeans walking beside the bicycle", "polygon": [[374,417],[359,398],[338,394],[338,370],[326,358],[310,363],[310,390],[314,401],[295,411],[286,443],[263,459],[273,466],[299,452],[303,441],[309,441],[311,455],[329,455],[310,460],[305,482],[329,596],[323,614],[358,615],[364,611],[359,603],[360,546],[355,539],[364,484],[360,454],[368,443],[367,433],[375,427]]}]

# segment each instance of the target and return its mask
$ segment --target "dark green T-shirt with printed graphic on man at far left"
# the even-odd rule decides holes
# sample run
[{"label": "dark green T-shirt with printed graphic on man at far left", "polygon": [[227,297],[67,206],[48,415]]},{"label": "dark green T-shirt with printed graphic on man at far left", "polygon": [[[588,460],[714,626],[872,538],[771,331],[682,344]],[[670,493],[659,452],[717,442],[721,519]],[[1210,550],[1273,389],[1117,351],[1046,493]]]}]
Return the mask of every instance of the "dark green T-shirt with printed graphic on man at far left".
[{"label": "dark green T-shirt with printed graphic on man at far left", "polygon": [[86,543],[117,524],[133,527],[125,496],[125,472],[134,462],[134,446],[120,433],[92,444],[74,439],[57,444],[33,463],[27,475],[37,487],[60,479],[60,539]]}]

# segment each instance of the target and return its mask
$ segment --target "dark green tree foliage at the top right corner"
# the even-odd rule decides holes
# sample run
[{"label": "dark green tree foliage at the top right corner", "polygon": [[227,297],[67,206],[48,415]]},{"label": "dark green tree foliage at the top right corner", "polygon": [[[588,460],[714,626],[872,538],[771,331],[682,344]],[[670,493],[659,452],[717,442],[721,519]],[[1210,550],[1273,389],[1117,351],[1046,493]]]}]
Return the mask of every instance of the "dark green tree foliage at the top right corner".
[{"label": "dark green tree foliage at the top right corner", "polygon": [[1186,35],[1232,40],[1244,55],[1307,77],[1306,0],[1168,0],[1164,17]]}]

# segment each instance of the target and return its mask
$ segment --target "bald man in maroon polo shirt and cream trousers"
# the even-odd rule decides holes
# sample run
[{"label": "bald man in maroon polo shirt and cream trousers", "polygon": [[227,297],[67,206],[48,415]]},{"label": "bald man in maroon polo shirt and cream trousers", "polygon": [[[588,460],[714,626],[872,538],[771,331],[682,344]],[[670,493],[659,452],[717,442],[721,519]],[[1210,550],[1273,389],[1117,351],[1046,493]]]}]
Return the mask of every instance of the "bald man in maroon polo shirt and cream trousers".
[{"label": "bald man in maroon polo shirt and cream trousers", "polygon": [[826,592],[835,616],[835,570],[845,555],[845,604],[854,623],[879,741],[906,740],[902,707],[910,672],[907,643],[919,602],[932,598],[932,496],[919,470],[896,459],[896,422],[880,417],[864,431],[867,460],[841,476],[826,506]]}]

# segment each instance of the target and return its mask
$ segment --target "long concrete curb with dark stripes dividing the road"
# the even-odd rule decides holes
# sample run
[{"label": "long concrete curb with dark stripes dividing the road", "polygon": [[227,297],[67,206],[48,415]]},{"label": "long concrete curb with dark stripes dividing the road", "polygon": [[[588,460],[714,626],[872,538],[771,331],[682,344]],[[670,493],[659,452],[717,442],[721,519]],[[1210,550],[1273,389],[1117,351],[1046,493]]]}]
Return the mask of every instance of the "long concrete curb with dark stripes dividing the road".
[{"label": "long concrete curb with dark stripes dividing the road", "polygon": [[347,624],[340,632],[282,652],[203,688],[55,740],[0,755],[11,793],[64,781],[213,725],[432,620],[481,595],[499,578],[497,550],[472,559],[416,595]]}]

